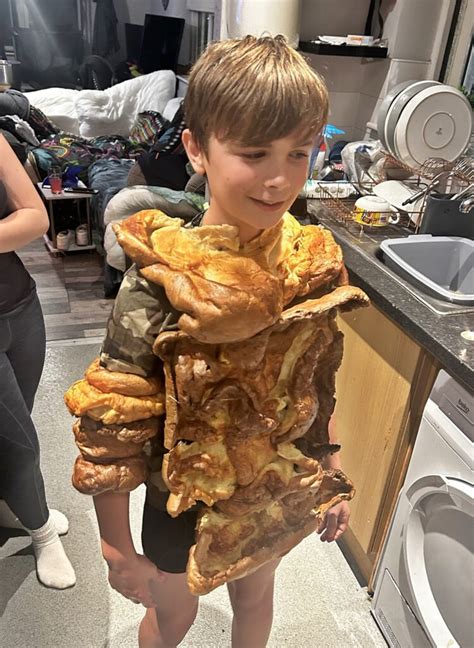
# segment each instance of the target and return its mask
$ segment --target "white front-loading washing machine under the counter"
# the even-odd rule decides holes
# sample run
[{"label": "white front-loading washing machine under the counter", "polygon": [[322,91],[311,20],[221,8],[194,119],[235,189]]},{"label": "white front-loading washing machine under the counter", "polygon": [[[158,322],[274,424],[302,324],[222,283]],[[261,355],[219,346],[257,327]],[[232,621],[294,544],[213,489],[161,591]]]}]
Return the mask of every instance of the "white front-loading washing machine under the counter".
[{"label": "white front-loading washing machine under the counter", "polygon": [[473,648],[474,396],[440,371],[374,579],[391,647]]}]

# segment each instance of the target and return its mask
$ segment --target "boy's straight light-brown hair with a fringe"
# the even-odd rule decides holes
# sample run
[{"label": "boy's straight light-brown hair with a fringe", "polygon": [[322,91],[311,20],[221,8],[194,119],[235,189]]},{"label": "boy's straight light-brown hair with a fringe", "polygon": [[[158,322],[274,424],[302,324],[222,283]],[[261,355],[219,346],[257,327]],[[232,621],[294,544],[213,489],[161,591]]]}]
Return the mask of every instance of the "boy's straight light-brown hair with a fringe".
[{"label": "boy's straight light-brown hair with a fringe", "polygon": [[284,36],[212,43],[194,65],[186,125],[207,153],[211,135],[261,146],[295,131],[314,138],[326,123],[322,78]]}]

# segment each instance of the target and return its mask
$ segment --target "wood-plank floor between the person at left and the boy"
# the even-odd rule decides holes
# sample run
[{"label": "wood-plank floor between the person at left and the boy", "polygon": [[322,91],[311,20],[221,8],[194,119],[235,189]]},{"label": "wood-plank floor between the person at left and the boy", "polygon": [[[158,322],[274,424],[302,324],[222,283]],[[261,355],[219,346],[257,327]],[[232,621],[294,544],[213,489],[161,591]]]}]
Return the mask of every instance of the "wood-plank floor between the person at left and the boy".
[{"label": "wood-plank floor between the person at left and the boy", "polygon": [[19,255],[36,281],[48,342],[104,335],[113,299],[104,299],[99,254],[53,256],[40,239]]}]

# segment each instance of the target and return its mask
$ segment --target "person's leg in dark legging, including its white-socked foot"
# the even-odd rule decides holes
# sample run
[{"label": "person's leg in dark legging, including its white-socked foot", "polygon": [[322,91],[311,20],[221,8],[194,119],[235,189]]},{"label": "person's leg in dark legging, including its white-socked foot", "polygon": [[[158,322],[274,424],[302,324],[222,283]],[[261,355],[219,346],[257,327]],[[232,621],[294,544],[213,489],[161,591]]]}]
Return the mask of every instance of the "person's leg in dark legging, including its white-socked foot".
[{"label": "person's leg in dark legging, including its white-socked foot", "polygon": [[[30,416],[44,358],[44,328],[37,315],[33,303],[21,317],[0,321],[0,494],[31,536],[39,580],[47,587],[63,589],[74,585],[76,579],[46,504],[38,437]],[[33,347],[26,339],[28,319]],[[15,365],[10,360],[12,350]],[[7,513],[5,506],[2,510]]]}]

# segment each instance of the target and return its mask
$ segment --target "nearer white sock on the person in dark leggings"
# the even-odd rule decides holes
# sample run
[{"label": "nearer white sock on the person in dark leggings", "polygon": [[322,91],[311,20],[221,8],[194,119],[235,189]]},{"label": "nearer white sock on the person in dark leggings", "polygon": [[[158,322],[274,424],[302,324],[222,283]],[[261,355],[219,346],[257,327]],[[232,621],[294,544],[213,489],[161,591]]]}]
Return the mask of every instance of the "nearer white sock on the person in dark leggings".
[{"label": "nearer white sock on the person in dark leggings", "polygon": [[36,571],[46,587],[66,589],[76,583],[74,568],[66,556],[52,516],[40,529],[27,529],[36,555]]}]

